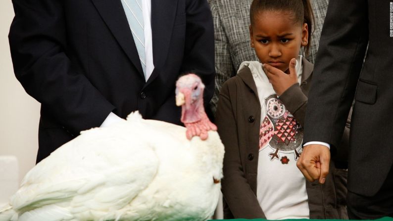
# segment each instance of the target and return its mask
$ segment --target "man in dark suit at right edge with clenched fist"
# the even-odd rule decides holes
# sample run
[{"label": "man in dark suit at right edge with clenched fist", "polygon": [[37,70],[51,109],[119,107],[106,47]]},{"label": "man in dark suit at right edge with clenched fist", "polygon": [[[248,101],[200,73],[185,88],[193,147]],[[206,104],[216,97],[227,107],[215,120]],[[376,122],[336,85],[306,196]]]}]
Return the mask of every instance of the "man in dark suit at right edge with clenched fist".
[{"label": "man in dark suit at right edge with clenched fist", "polygon": [[331,151],[338,146],[354,98],[350,219],[393,216],[392,26],[392,1],[330,0],[316,57],[298,167],[308,180],[325,181],[327,146]]}]

